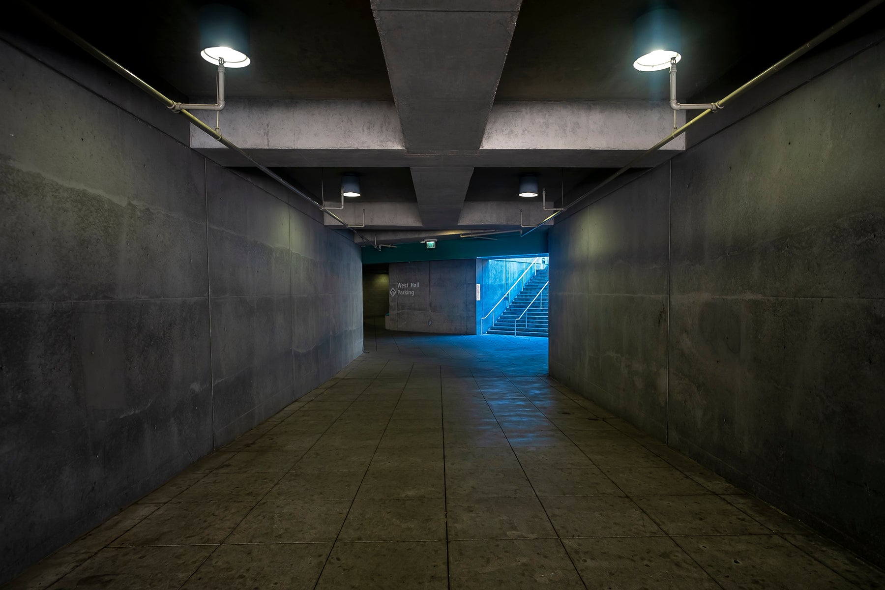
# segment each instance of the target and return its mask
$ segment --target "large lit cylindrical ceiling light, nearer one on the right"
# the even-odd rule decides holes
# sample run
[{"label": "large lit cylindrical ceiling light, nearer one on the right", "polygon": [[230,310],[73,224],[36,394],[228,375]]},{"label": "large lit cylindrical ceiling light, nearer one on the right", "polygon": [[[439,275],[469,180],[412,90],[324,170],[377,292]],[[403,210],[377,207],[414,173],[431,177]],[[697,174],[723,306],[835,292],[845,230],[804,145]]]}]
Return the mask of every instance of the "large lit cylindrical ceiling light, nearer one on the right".
[{"label": "large lit cylindrical ceiling light, nearer one on the right", "polygon": [[656,8],[636,19],[636,61],[640,72],[666,70],[670,62],[682,58],[682,34],[679,11],[672,8]]}]

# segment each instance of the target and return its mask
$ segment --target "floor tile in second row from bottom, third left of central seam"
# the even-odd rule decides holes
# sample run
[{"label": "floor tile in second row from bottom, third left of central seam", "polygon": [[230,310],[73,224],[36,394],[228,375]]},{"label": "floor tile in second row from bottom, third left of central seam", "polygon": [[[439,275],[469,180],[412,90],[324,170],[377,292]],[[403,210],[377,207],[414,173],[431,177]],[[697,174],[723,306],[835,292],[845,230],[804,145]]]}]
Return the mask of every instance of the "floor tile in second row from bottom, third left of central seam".
[{"label": "floor tile in second row from bottom, third left of central seam", "polygon": [[253,506],[255,502],[170,502],[115,540],[112,547],[218,544]]}]

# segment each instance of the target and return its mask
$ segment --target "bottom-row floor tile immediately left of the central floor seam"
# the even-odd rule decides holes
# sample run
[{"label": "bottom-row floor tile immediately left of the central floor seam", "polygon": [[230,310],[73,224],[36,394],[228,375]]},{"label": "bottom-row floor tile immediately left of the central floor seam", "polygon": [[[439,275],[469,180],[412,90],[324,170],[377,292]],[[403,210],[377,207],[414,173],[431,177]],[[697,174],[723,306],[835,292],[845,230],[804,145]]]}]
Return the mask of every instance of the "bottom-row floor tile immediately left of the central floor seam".
[{"label": "bottom-row floor tile immediately left of the central floor seam", "polygon": [[317,590],[447,590],[445,541],[335,543]]}]

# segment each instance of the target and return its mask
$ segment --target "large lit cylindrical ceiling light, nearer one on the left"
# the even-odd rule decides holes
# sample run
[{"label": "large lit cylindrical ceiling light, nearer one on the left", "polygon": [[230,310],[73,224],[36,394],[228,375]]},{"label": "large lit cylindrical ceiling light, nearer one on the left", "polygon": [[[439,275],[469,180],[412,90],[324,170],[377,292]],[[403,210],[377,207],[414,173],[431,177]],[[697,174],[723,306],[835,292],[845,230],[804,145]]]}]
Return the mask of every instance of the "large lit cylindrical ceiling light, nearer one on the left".
[{"label": "large lit cylindrical ceiling light, nearer one on the left", "polygon": [[249,21],[226,4],[206,4],[200,9],[200,55],[211,64],[246,67],[249,59]]}]

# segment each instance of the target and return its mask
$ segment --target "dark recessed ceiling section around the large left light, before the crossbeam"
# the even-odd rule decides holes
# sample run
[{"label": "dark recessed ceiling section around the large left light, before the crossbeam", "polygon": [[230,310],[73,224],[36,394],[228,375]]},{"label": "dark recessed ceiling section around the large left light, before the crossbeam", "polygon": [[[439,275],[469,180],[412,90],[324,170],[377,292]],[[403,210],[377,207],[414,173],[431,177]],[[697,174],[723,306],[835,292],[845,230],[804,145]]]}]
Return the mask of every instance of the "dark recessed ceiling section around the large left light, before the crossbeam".
[{"label": "dark recessed ceiling section around the large left light, before the crossbeam", "polygon": [[[191,98],[215,93],[199,56],[197,11],[212,0],[174,4],[40,2],[35,4],[131,69],[161,76]],[[372,15],[360,0],[223,0],[250,19],[251,64],[227,70],[235,97],[392,101]],[[102,14],[104,18],[95,18]],[[149,76],[150,78],[150,76]],[[149,80],[151,81],[151,80]]]}]

